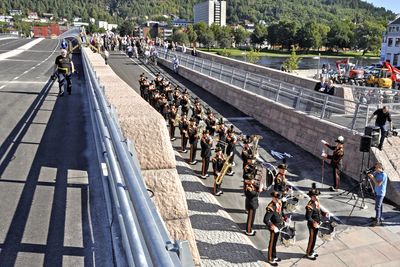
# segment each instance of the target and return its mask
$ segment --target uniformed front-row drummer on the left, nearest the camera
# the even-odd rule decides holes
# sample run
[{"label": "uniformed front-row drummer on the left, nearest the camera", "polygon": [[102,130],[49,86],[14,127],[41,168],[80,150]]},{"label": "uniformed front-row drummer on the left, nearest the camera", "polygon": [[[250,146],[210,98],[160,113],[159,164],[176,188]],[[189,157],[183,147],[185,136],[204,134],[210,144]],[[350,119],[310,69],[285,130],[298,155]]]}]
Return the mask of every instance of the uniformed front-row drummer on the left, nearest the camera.
[{"label": "uniformed front-row drummer on the left, nearest the camera", "polygon": [[264,216],[264,223],[267,225],[270,238],[268,245],[268,262],[272,266],[278,266],[280,258],[276,256],[276,243],[278,242],[279,231],[283,226],[283,208],[282,202],[279,200],[281,195],[279,192],[271,193],[272,201],[267,206],[267,212]]}]

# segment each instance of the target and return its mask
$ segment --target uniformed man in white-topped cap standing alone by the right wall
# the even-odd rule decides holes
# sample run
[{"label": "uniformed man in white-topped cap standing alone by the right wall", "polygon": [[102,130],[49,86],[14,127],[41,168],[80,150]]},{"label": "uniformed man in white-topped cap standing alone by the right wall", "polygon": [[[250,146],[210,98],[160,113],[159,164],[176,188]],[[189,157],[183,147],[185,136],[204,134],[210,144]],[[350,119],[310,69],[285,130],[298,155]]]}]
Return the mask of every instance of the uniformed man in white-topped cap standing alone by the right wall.
[{"label": "uniformed man in white-topped cap standing alone by the right wall", "polygon": [[339,181],[340,174],[342,170],[342,158],[344,156],[344,138],[343,136],[339,136],[336,140],[336,145],[331,146],[327,142],[324,142],[324,145],[329,149],[333,150],[332,155],[327,155],[324,159],[330,159],[331,165],[333,169],[333,187],[330,187],[331,191],[338,191],[339,189]]}]

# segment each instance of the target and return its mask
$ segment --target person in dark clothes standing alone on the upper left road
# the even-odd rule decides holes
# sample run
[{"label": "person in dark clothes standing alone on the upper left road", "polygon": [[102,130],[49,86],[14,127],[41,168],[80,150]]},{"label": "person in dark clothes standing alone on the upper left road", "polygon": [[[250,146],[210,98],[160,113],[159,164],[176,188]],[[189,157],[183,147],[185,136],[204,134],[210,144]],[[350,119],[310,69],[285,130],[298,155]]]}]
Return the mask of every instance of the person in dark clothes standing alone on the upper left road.
[{"label": "person in dark clothes standing alone on the upper left road", "polygon": [[54,73],[58,78],[59,93],[61,97],[64,95],[64,85],[67,84],[67,92],[70,95],[72,91],[71,75],[74,73],[74,62],[68,56],[67,50],[61,49],[61,55],[56,58]]}]

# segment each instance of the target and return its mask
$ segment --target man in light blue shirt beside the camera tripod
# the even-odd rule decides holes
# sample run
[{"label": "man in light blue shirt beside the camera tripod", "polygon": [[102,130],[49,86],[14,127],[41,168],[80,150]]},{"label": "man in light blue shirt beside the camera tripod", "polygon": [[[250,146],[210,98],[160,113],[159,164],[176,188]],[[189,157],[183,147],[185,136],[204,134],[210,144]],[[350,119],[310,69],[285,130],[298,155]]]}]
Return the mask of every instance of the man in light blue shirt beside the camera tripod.
[{"label": "man in light blue shirt beside the camera tripod", "polygon": [[382,203],[386,194],[387,174],[383,171],[382,163],[375,163],[374,167],[366,171],[375,185],[375,220],[371,226],[382,225]]}]

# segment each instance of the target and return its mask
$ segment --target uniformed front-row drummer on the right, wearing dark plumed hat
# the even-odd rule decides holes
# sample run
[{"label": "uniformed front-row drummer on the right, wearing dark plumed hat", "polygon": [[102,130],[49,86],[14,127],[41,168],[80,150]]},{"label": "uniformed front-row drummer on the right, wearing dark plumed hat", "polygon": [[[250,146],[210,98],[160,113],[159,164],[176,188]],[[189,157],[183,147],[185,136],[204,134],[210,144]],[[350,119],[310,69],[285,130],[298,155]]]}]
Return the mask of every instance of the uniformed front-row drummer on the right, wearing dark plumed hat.
[{"label": "uniformed front-row drummer on the right, wearing dark plumed hat", "polygon": [[[313,187],[315,187],[313,185]],[[318,228],[321,223],[321,217],[329,217],[328,212],[324,212],[321,210],[318,195],[320,194],[318,189],[312,188],[308,192],[308,196],[311,200],[307,203],[306,206],[306,220],[307,227],[309,231],[308,245],[307,245],[307,258],[310,260],[316,260],[318,254],[314,251],[315,242],[317,241]]]}]

